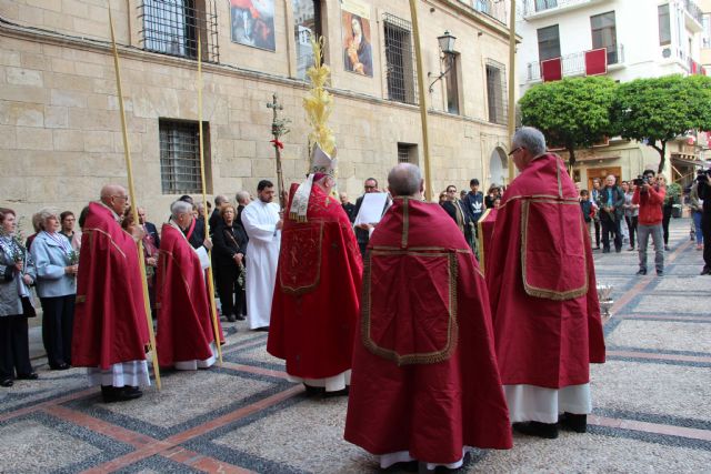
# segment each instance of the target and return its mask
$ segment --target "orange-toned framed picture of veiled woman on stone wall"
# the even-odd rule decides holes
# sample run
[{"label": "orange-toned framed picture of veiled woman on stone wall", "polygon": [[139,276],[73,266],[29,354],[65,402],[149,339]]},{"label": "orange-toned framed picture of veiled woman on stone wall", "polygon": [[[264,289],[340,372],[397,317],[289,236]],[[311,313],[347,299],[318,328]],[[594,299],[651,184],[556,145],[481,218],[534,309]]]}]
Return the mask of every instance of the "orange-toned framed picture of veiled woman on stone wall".
[{"label": "orange-toned framed picture of veiled woman on stone wall", "polygon": [[373,51],[370,43],[370,6],[360,0],[341,1],[343,65],[347,71],[373,77]]}]

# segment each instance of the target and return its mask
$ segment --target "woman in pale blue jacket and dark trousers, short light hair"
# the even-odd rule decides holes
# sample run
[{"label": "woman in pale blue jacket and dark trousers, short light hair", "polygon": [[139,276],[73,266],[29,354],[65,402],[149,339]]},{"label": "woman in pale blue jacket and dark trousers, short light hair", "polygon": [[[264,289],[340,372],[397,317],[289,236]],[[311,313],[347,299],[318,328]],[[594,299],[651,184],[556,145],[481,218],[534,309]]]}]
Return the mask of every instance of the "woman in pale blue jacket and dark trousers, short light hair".
[{"label": "woman in pale blue jacket and dark trousers, short light hair", "polygon": [[71,365],[79,259],[59,233],[57,211],[41,210],[40,228],[31,253],[37,265],[37,294],[42,303],[42,342],[50,369],[63,371]]}]

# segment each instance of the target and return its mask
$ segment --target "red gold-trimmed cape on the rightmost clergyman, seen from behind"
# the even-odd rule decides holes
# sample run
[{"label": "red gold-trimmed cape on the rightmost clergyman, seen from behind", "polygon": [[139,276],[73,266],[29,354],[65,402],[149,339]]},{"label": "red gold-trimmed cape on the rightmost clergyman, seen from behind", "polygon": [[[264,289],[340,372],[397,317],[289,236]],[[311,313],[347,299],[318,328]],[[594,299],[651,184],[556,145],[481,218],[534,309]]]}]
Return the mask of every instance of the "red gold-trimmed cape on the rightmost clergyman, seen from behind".
[{"label": "red gold-trimmed cape on the rightmost clergyman, seen from behind", "polygon": [[604,362],[595,273],[578,190],[557,155],[535,158],[507,189],[487,283],[504,385],[590,381],[590,362]]}]

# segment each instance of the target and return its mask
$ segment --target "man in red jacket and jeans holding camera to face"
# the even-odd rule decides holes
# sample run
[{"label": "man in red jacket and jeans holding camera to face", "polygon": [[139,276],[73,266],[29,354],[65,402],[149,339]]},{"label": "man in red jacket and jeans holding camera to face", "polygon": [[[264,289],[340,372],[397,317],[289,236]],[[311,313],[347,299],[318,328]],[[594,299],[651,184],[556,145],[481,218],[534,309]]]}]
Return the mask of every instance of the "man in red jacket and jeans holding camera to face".
[{"label": "man in red jacket and jeans holding camera to face", "polygon": [[657,275],[664,274],[664,241],[662,234],[662,202],[667,189],[657,183],[654,171],[644,170],[641,177],[633,181],[634,195],[632,204],[639,204],[640,215],[637,223],[637,240],[640,250],[640,270],[638,275],[647,274],[647,244],[652,235],[654,243],[654,266]]}]

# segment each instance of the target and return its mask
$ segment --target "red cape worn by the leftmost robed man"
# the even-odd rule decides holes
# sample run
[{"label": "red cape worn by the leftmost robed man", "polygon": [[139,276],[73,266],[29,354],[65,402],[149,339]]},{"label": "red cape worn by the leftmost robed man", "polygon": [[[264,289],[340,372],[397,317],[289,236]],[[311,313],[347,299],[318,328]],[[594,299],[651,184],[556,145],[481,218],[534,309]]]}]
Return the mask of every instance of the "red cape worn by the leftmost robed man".
[{"label": "red cape worn by the leftmost robed man", "polygon": [[89,204],[81,235],[71,364],[101,367],[146,359],[143,283],[133,238],[102,204]]}]

